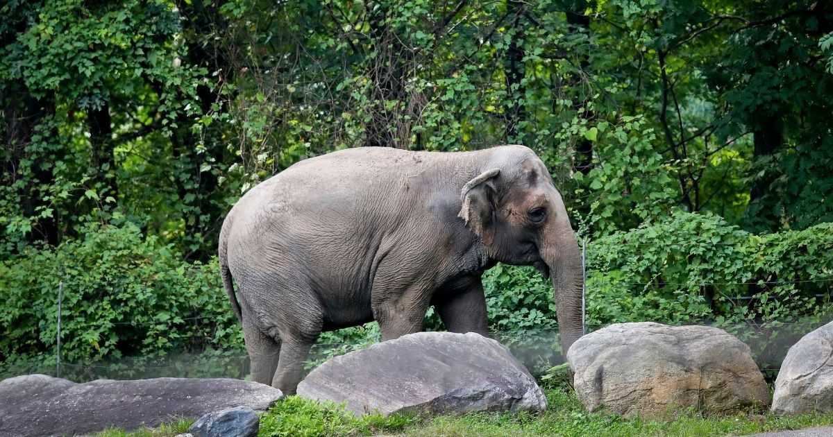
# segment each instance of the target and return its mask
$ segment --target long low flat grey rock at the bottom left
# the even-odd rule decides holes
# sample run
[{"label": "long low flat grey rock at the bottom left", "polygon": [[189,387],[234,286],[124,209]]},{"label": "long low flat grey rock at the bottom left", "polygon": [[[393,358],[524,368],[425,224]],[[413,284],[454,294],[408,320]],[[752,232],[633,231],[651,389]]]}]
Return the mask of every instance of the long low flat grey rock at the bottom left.
[{"label": "long low flat grey rock at the bottom left", "polygon": [[281,390],[230,379],[157,378],[76,384],[47,375],[0,381],[0,435],[76,435],[114,426],[125,430],[197,419],[247,405],[267,410]]}]

